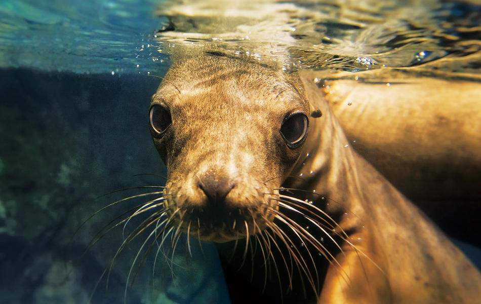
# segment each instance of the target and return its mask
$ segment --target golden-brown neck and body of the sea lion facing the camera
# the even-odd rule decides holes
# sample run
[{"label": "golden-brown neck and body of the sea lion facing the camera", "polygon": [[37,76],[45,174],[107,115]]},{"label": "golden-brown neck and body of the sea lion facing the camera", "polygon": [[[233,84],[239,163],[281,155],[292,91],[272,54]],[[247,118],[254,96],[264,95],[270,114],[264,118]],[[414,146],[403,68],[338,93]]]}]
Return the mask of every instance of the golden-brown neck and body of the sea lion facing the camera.
[{"label": "golden-brown neck and body of the sea lion facing the camera", "polygon": [[[310,95],[308,99],[311,105],[320,108],[323,113],[330,113],[323,96],[315,95],[319,91],[315,91],[313,83],[309,81],[310,79],[304,79],[304,86]],[[330,166],[336,168],[337,172],[345,173],[338,173],[332,179],[319,178],[315,189],[337,202],[349,202],[350,206],[343,203],[342,208],[352,210],[355,216],[351,215],[350,219],[346,216],[346,224],[343,225],[342,221],[339,224],[344,226],[345,231],[352,230],[350,227],[354,226],[354,231],[357,232],[350,237],[361,241],[352,241],[356,248],[344,248],[343,269],[354,269],[357,273],[349,273],[350,280],[341,287],[338,278],[342,272],[331,269],[319,303],[474,303],[478,298],[475,295],[480,292],[479,273],[429,219],[359,157],[350,145],[346,147],[348,141],[341,132],[340,124],[331,113],[330,117],[332,122],[328,125],[332,124],[332,132],[339,136],[337,142],[328,140],[317,145],[307,141],[306,150],[322,159],[325,155],[331,155],[331,161],[338,163]],[[332,138],[327,136],[326,126],[315,126],[313,129],[320,131],[320,134],[311,138]],[[310,147],[307,146],[309,143]],[[320,147],[329,145],[332,149],[329,153],[319,153]],[[315,160],[306,163],[306,166],[313,163],[316,163]],[[323,171],[325,167],[326,165],[310,165],[300,171]],[[294,185],[298,186],[300,185]],[[335,211],[328,211],[332,212]],[[371,257],[384,276],[368,260],[363,261],[365,257],[359,256],[357,250]],[[353,288],[350,284],[358,287]],[[346,291],[334,292],[342,288]],[[363,291],[365,296],[359,297],[359,291]]]}]

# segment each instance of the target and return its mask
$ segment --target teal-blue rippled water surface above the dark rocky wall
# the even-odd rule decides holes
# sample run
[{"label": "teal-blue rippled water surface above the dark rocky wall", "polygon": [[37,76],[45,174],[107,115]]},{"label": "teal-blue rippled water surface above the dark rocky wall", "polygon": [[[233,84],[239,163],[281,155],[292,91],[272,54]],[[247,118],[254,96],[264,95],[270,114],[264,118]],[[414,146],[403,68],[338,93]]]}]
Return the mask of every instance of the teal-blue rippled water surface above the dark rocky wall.
[{"label": "teal-blue rippled water surface above the dark rocky wall", "polygon": [[[159,1],[0,2],[0,67],[77,73],[146,72]],[[137,67],[139,65],[139,67]]]}]

